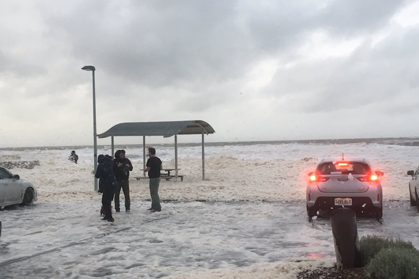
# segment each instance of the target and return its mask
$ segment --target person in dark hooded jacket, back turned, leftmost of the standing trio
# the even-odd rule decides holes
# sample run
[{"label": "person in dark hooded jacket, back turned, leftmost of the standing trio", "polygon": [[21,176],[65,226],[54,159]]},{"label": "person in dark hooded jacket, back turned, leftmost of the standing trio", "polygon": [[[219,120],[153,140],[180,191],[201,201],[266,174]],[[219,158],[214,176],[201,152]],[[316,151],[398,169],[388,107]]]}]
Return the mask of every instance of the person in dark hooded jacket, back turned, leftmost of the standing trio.
[{"label": "person in dark hooded jacket, back turned, leftmost of the standing trio", "polygon": [[98,167],[95,177],[99,179],[99,192],[102,193],[102,205],[105,210],[105,217],[102,220],[113,222],[111,203],[117,186],[116,178],[112,168],[113,158],[108,155],[98,156]]}]

